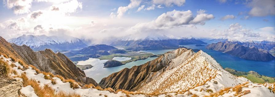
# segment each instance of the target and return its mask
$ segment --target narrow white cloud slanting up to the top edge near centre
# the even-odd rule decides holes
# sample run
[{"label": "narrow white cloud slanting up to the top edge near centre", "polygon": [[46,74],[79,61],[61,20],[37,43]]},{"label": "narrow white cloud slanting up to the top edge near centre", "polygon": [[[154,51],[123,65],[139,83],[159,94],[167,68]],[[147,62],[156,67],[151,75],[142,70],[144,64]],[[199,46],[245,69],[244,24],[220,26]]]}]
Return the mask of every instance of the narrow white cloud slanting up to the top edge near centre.
[{"label": "narrow white cloud slanting up to the top edge near centre", "polygon": [[128,6],[120,6],[117,9],[117,17],[121,18],[123,16],[123,14],[128,10],[128,9],[132,9],[135,7],[138,7],[141,3],[141,0],[130,0],[131,3]]}]

